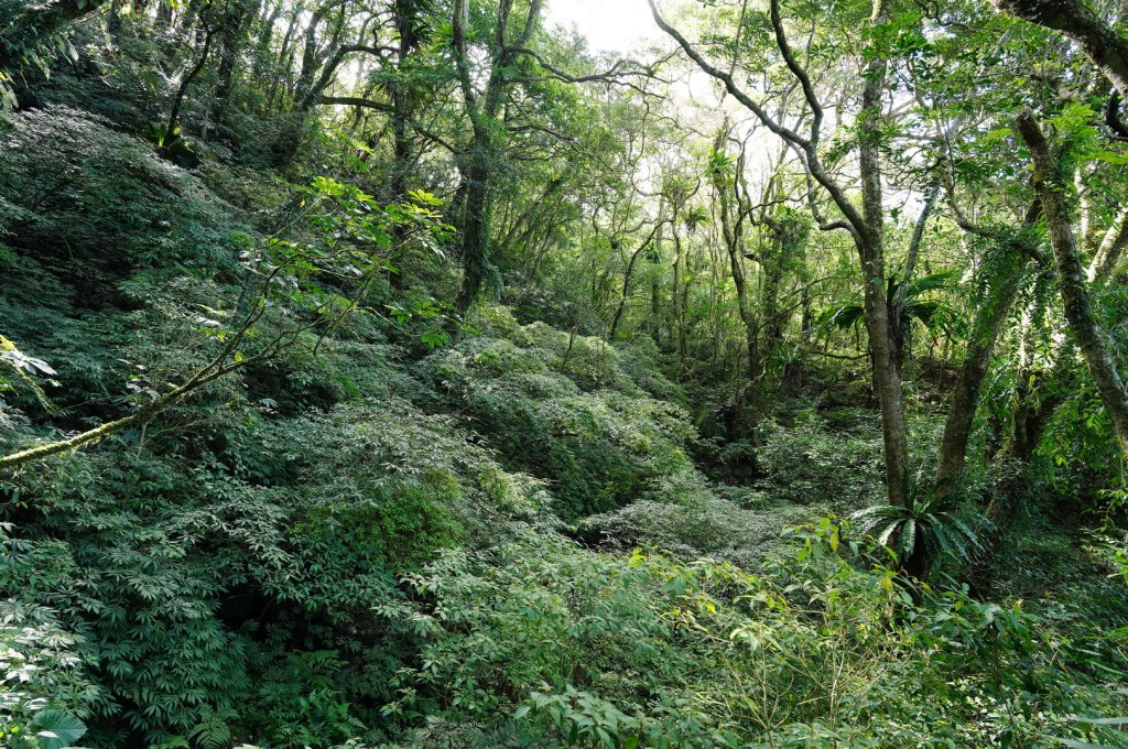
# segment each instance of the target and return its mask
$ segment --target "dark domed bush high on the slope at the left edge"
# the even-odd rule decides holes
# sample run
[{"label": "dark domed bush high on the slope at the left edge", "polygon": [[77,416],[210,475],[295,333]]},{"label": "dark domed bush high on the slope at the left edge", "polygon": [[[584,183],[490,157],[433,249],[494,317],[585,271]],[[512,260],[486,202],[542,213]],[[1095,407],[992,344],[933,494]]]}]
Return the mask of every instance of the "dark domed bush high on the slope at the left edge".
[{"label": "dark domed bush high on the slope at the left edge", "polygon": [[139,265],[233,264],[230,239],[239,227],[231,208],[143,141],[64,106],[6,114],[3,122],[5,241],[69,262],[64,275],[82,285],[87,305],[106,300],[115,276]]}]

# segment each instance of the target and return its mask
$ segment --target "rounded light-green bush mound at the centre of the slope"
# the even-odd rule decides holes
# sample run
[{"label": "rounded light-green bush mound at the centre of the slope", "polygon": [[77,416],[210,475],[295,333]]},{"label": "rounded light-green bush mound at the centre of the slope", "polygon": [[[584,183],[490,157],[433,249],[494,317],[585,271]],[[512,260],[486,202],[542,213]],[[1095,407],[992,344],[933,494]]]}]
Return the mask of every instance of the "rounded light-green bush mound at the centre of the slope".
[{"label": "rounded light-green bush mound at the centre of the slope", "polygon": [[559,514],[622,506],[689,468],[687,414],[646,395],[655,378],[635,381],[619,365],[628,354],[543,324],[512,338],[467,338],[432,355],[425,373],[508,466],[552,482]]}]

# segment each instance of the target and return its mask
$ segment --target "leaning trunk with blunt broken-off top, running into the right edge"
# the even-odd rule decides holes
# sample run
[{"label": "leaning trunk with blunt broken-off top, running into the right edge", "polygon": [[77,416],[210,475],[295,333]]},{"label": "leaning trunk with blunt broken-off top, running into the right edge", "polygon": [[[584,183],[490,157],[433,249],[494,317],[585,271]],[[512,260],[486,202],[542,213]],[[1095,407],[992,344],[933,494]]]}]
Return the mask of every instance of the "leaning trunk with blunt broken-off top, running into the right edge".
[{"label": "leaning trunk with blunt broken-off top, running into the right edge", "polygon": [[1034,190],[1042,203],[1046,229],[1054,248],[1065,317],[1089,364],[1089,372],[1112,422],[1120,450],[1128,457],[1128,391],[1125,390],[1123,380],[1093,316],[1077,244],[1069,224],[1069,210],[1064,199],[1069,185],[1061,178],[1060,168],[1050,153],[1041,126],[1029,109],[1019,114],[1017,125],[1034,161]]}]

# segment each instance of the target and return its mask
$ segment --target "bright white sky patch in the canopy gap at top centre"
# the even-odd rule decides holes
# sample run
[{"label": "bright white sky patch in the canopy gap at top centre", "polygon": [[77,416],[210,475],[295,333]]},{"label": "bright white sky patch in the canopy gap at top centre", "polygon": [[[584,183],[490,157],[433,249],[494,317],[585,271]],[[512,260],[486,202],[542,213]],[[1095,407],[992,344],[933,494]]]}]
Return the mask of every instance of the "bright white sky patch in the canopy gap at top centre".
[{"label": "bright white sky patch in the canopy gap at top centre", "polygon": [[547,17],[565,28],[574,25],[601,52],[631,52],[660,33],[646,0],[550,0]]}]

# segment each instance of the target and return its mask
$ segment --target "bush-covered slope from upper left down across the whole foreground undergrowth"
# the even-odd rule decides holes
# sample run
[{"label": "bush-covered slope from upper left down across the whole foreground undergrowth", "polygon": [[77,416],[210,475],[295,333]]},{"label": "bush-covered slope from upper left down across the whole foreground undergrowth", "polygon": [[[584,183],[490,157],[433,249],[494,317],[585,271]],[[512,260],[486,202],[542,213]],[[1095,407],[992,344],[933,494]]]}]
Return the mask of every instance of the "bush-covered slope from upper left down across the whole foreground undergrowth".
[{"label": "bush-covered slope from upper left down across the whole foreground undergrowth", "polygon": [[[95,117],[7,122],[6,168],[34,152],[65,175],[5,193],[3,319],[58,380],[7,394],[11,451],[203,365],[245,288],[235,250],[271,219]],[[59,131],[114,159],[52,151]],[[959,588],[915,602],[882,552],[816,520],[879,492],[876,435],[812,412],[767,432],[758,488],[726,487],[695,466],[656,352],[503,307],[433,351],[413,325],[360,311],[6,478],[16,699],[90,746],[679,747],[1066,735],[1114,700],[1082,666],[1099,644]]]}]

